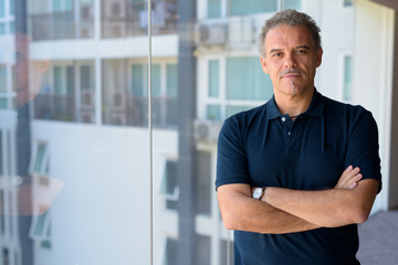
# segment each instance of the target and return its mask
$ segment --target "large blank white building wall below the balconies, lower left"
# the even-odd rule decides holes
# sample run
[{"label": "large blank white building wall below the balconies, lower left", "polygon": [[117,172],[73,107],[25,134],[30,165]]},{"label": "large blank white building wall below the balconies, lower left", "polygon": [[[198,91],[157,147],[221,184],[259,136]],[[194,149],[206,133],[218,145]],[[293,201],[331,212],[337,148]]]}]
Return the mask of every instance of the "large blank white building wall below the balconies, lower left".
[{"label": "large blank white building wall below the balconies, lower left", "polygon": [[[146,128],[34,121],[50,148],[50,174],[64,182],[52,211],[52,250],[43,264],[149,261],[149,132]],[[177,134],[154,132],[154,160],[176,156]],[[155,180],[154,182],[157,182]]]}]

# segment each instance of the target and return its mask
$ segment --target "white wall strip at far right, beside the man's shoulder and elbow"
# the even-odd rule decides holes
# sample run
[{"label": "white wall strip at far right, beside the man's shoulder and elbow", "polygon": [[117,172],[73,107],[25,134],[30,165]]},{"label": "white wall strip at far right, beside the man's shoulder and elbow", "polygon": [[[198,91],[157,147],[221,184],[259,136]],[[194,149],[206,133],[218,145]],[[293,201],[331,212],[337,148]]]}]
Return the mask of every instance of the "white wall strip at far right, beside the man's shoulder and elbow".
[{"label": "white wall strip at far right, beside the man's shoulder and elbow", "polygon": [[394,11],[368,0],[355,2],[354,103],[369,109],[378,125],[384,190],[376,210],[388,205],[392,89]]}]

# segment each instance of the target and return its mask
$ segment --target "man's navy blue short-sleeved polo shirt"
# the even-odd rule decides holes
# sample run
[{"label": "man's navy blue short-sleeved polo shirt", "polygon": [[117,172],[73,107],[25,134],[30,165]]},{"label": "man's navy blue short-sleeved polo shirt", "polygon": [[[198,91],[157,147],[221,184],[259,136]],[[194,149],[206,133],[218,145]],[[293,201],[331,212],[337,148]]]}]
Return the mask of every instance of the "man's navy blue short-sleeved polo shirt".
[{"label": "man's navy blue short-sleeved polo shirt", "polygon": [[[365,108],[315,91],[294,121],[274,98],[228,118],[218,141],[216,188],[332,189],[349,165],[381,189],[376,121]],[[234,231],[235,265],[359,264],[357,251],[356,224],[281,235]]]}]

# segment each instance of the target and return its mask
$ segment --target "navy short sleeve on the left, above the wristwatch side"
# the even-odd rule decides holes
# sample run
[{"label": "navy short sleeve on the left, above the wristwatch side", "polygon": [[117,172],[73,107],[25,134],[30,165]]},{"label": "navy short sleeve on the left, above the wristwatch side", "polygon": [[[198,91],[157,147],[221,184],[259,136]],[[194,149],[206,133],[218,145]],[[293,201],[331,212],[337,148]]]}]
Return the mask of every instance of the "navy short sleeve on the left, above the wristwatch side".
[{"label": "navy short sleeve on the left, above the wristwatch side", "polygon": [[223,184],[250,184],[251,182],[240,129],[239,121],[234,116],[227,119],[221,128],[217,151],[216,190]]}]

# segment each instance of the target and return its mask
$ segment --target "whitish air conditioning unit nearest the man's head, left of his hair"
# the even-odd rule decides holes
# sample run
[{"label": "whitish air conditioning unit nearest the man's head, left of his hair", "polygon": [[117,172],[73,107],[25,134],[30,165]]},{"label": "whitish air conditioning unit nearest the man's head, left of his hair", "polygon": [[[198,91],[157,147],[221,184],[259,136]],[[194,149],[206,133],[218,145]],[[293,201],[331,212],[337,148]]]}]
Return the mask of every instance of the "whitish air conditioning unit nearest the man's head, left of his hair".
[{"label": "whitish air conditioning unit nearest the man's head, left of his hair", "polygon": [[252,18],[238,18],[231,20],[229,42],[231,45],[255,43],[255,25]]}]

